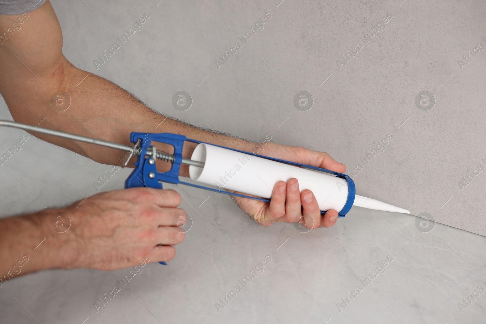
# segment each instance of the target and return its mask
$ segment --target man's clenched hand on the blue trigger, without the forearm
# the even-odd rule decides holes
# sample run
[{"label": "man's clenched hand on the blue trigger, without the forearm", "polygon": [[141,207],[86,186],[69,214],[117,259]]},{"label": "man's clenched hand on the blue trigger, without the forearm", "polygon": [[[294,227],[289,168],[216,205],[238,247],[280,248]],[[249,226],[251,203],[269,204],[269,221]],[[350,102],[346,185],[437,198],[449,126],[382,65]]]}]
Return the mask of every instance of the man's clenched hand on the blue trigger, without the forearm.
[{"label": "man's clenched hand on the blue trigger, without the forearm", "polygon": [[186,213],[176,208],[181,198],[174,190],[122,189],[89,197],[76,208],[80,203],[65,210],[71,228],[63,243],[76,247],[77,256],[66,268],[123,269],[145,256],[168,261],[175,256],[172,245],[184,240],[177,225],[186,222]]}]

